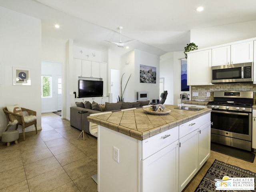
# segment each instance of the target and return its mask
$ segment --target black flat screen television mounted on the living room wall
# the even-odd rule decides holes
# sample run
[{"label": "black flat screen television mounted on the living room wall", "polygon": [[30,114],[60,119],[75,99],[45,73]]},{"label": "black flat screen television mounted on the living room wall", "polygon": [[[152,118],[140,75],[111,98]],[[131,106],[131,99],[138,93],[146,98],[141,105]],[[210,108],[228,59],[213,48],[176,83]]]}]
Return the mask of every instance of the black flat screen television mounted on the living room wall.
[{"label": "black flat screen television mounted on the living room wall", "polygon": [[103,81],[78,80],[78,97],[102,97]]}]

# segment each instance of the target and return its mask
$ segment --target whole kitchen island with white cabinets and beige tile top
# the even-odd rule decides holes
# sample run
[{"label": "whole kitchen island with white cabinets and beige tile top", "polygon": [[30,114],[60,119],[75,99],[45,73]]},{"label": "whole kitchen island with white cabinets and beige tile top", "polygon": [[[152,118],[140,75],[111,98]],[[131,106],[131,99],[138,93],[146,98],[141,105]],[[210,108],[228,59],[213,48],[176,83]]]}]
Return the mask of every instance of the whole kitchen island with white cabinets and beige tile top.
[{"label": "whole kitchen island with white cabinets and beige tile top", "polygon": [[165,105],[88,117],[98,124],[98,191],[182,191],[210,156],[211,109]]}]

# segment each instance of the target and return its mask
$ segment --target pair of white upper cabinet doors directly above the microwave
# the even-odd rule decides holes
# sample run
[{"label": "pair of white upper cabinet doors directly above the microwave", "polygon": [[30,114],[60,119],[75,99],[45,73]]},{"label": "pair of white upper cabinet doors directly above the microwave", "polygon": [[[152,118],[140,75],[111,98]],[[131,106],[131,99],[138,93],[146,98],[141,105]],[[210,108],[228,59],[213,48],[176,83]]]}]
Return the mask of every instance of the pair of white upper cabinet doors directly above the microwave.
[{"label": "pair of white upper cabinet doors directly above the microwave", "polygon": [[212,49],[212,66],[253,61],[253,41]]}]

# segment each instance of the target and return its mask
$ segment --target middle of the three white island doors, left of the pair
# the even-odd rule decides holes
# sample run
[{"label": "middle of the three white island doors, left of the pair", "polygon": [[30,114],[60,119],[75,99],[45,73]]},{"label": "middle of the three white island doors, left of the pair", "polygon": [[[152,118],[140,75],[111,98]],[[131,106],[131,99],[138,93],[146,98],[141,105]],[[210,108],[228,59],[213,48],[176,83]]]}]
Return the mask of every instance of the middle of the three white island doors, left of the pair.
[{"label": "middle of the three white island doors, left of the pair", "polygon": [[180,138],[179,192],[198,171],[198,129]]}]

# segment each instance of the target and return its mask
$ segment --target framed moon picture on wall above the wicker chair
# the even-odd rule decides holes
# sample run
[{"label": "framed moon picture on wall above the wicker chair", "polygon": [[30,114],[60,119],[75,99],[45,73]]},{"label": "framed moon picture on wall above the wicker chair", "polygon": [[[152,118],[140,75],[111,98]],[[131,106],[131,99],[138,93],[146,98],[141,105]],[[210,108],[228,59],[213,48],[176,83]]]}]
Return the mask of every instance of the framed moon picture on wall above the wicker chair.
[{"label": "framed moon picture on wall above the wicker chair", "polygon": [[30,86],[31,76],[30,68],[12,67],[12,85]]}]

